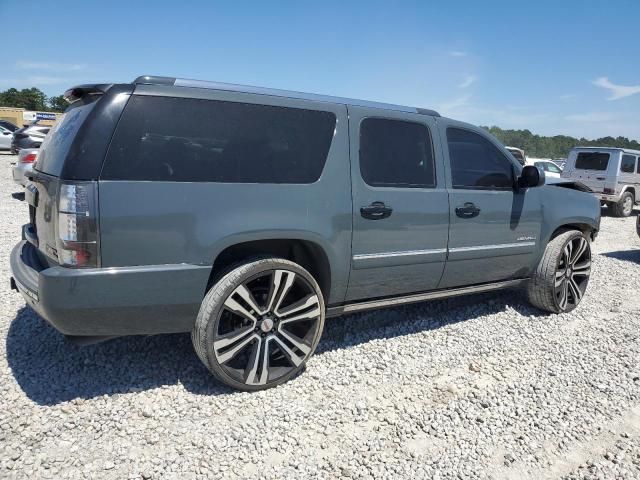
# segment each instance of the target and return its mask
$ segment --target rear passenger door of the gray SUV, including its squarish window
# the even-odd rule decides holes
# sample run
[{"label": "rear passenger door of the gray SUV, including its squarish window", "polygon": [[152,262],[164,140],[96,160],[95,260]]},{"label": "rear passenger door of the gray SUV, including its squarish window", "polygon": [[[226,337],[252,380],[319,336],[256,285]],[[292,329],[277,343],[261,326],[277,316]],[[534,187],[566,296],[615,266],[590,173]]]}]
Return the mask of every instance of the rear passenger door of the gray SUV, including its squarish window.
[{"label": "rear passenger door of the gray SUV, including its squarish window", "polygon": [[435,289],[449,203],[435,121],[349,107],[353,242],[347,300]]}]

